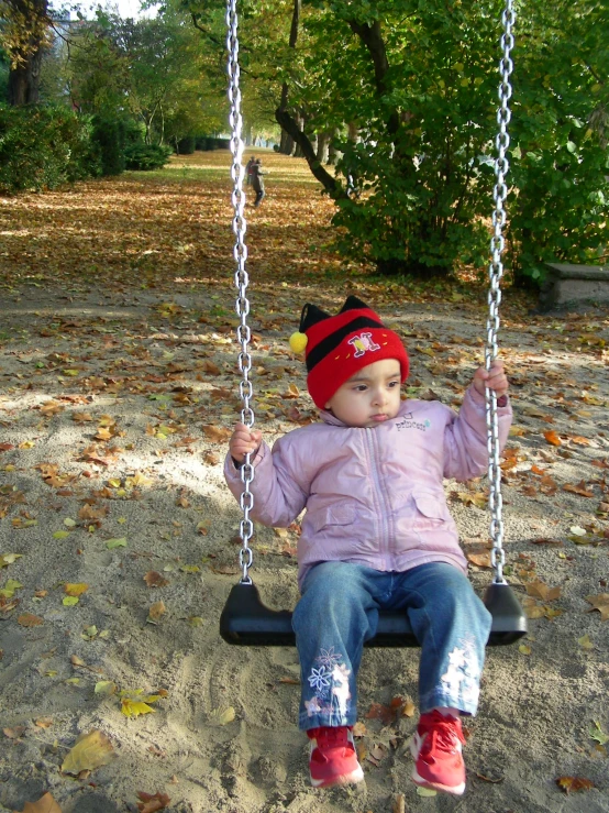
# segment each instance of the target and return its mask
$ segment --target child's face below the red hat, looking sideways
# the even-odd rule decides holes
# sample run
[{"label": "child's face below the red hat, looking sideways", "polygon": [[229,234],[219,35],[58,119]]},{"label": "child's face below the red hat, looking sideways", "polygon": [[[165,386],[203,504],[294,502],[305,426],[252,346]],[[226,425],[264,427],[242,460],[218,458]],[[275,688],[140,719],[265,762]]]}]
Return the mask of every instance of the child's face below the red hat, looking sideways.
[{"label": "child's face below the red hat, looking sideways", "polygon": [[399,362],[396,359],[381,359],[346,381],[325,408],[347,426],[378,426],[398,414],[400,385]]}]

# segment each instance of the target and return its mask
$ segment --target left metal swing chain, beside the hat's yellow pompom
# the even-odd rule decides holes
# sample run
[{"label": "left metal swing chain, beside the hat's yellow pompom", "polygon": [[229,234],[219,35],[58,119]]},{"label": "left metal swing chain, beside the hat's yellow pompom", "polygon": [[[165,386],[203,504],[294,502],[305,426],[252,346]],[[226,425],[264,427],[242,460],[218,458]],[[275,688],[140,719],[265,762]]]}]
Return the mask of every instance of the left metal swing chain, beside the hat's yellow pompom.
[{"label": "left metal swing chain, beside the hat's yellow pompom", "polygon": [[[235,245],[233,256],[236,263],[234,275],[235,288],[237,292],[235,310],[241,321],[236,329],[236,340],[241,345],[239,353],[239,369],[242,380],[239,385],[239,394],[243,404],[241,410],[241,421],[250,429],[254,426],[254,410],[250,405],[253,397],[252,382],[250,381],[250,372],[252,370],[252,356],[248,345],[251,339],[250,327],[247,325],[247,315],[250,314],[250,300],[247,299],[247,285],[250,277],[245,270],[245,261],[247,260],[247,246],[245,244],[245,232],[247,223],[243,215],[245,208],[245,191],[243,190],[243,178],[245,171],[243,168],[243,139],[241,138],[243,129],[243,119],[241,116],[241,90],[239,87],[240,67],[239,67],[239,37],[237,37],[237,14],[236,0],[228,0],[226,2],[226,51],[229,52],[229,63],[226,73],[229,74],[229,101],[231,103],[230,124],[231,124],[231,153],[233,163],[231,166],[231,178],[234,184],[232,194],[232,204],[234,209],[233,216],[233,233],[235,235]],[[254,557],[250,548],[250,540],[254,534],[254,524],[250,519],[250,513],[254,508],[254,495],[250,491],[250,486],[254,480],[254,466],[251,462],[250,453],[245,455],[245,461],[241,466],[241,481],[243,483],[243,493],[240,498],[243,519],[240,524],[241,551],[239,553],[239,563],[241,564],[242,584],[252,584],[248,570],[252,567]]]}]

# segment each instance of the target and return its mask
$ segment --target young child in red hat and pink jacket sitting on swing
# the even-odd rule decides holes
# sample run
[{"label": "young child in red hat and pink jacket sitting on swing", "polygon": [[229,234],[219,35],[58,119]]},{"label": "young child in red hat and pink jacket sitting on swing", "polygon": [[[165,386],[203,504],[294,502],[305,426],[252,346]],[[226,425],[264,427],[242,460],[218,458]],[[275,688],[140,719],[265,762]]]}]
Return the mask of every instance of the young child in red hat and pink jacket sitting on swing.
[{"label": "young child in red hat and pink jacket sitting on swing", "polygon": [[239,424],[224,473],[239,498],[239,469],[252,453],[252,516],[264,525],[289,526],[307,509],[292,624],[311,782],[364,778],[352,735],[356,675],[378,611],[394,608],[408,613],[421,644],[412,779],[459,795],[459,717],[476,713],[490,614],[467,580],[443,479],[487,470],[485,385],[497,394],[503,447],[511,409],[502,364],[476,371],[457,416],[439,402],[401,400],[403,344],[356,297],[337,316],[306,305],[300,331],[290,345],[306,352],[321,422],[288,432],[273,452],[259,431]]}]

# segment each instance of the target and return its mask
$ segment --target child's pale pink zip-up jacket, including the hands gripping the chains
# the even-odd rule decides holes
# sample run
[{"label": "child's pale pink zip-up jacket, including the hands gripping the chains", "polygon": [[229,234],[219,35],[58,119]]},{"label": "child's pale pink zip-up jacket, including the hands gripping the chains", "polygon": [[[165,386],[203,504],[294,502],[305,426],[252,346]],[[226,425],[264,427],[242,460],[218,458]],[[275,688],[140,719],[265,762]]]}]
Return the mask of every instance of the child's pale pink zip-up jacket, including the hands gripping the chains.
[{"label": "child's pale pink zip-up jacket, including the hands gripping the chains", "polygon": [[[511,424],[499,408],[501,449]],[[444,477],[469,480],[488,469],[485,399],[473,386],[458,416],[440,402],[405,400],[392,420],[347,427],[331,413],[323,422],[288,432],[255,459],[253,519],[287,527],[303,508],[299,583],[322,561],[403,571],[427,562],[467,570],[449,512]],[[230,454],[230,490],[243,485]]]}]

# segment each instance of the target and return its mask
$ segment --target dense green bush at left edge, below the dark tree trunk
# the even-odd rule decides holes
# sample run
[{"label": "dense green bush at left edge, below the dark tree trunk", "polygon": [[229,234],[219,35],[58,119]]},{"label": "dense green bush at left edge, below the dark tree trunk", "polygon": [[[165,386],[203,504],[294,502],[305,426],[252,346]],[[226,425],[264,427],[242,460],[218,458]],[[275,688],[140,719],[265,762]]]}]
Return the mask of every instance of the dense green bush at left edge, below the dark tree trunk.
[{"label": "dense green bush at left edge, below the dark tree trunk", "polygon": [[54,189],[97,175],[92,125],[66,107],[0,106],[0,191]]}]

